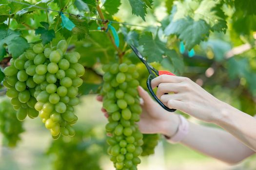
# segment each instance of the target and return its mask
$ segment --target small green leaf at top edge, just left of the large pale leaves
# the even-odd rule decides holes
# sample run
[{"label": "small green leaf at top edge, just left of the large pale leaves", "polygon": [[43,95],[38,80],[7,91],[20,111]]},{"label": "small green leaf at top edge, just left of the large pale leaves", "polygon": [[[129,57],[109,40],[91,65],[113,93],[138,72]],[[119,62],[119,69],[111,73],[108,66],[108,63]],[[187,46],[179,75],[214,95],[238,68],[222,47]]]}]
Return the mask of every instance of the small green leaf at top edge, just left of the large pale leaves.
[{"label": "small green leaf at top edge, just left of the large pale leaves", "polygon": [[147,5],[143,0],[129,0],[132,7],[132,13],[136,16],[140,16],[145,21],[147,14]]}]

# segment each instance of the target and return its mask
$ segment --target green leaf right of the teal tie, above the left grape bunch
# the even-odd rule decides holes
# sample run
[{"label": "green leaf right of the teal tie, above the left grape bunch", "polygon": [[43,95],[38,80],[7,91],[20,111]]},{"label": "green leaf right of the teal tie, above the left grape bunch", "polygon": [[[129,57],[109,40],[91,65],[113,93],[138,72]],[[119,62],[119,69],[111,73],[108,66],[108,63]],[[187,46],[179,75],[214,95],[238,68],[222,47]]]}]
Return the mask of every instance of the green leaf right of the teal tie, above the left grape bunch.
[{"label": "green leaf right of the teal tie, above the left grape bunch", "polygon": [[85,38],[85,35],[89,34],[89,24],[86,19],[79,19],[76,16],[70,16],[69,19],[76,25],[73,28],[72,33],[77,34],[78,40],[82,40]]}]

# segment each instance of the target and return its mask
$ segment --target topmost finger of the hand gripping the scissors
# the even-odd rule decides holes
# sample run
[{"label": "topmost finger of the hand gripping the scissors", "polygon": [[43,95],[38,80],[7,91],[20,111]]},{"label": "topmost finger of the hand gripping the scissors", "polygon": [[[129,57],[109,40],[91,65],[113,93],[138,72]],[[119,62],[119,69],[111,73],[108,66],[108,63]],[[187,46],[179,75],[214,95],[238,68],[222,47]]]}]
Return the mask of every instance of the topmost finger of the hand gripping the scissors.
[{"label": "topmost finger of the hand gripping the scissors", "polygon": [[160,75],[151,81],[152,88],[157,87],[160,83],[181,83],[188,81],[187,77],[171,76],[171,75]]}]

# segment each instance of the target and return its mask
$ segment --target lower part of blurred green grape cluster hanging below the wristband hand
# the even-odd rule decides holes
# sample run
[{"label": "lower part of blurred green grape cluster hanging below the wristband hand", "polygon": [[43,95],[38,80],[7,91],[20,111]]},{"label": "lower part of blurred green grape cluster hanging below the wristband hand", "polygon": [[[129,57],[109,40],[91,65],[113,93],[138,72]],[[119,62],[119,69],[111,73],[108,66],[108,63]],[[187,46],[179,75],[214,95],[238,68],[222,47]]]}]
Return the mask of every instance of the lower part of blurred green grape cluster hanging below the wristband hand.
[{"label": "lower part of blurred green grape cluster hanging below the wristband hand", "polygon": [[155,148],[160,139],[158,134],[143,134],[143,145],[141,156],[148,156],[155,153]]}]

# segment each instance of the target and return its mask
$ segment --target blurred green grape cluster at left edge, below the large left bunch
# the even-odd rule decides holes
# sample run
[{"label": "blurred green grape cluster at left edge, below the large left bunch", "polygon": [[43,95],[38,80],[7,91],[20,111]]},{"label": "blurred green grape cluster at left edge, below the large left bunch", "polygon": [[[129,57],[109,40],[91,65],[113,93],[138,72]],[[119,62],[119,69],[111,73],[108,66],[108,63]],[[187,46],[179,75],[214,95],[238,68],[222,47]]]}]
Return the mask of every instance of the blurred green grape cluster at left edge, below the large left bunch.
[{"label": "blurred green grape cluster at left edge, below the large left bunch", "polygon": [[24,132],[23,123],[16,118],[16,111],[9,100],[0,101],[0,131],[3,134],[3,145],[15,147]]}]

